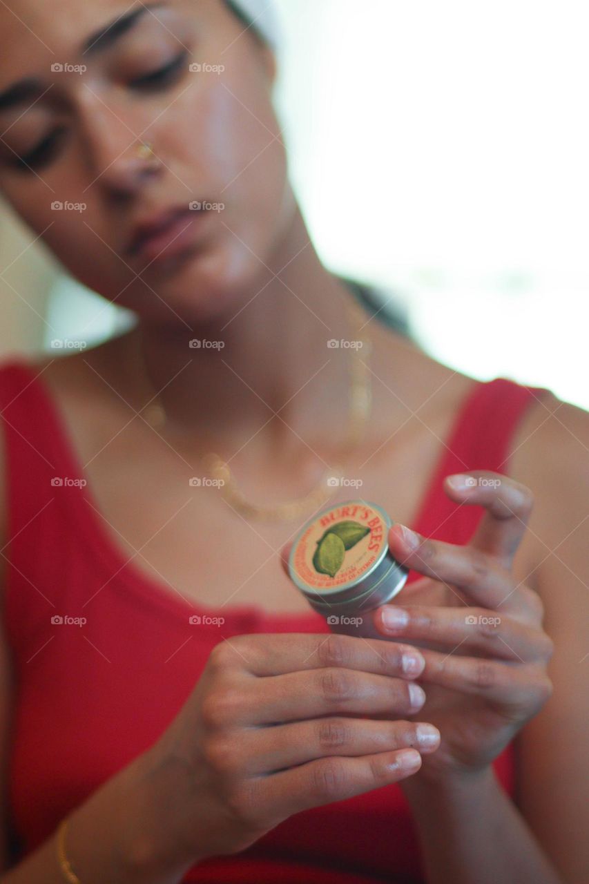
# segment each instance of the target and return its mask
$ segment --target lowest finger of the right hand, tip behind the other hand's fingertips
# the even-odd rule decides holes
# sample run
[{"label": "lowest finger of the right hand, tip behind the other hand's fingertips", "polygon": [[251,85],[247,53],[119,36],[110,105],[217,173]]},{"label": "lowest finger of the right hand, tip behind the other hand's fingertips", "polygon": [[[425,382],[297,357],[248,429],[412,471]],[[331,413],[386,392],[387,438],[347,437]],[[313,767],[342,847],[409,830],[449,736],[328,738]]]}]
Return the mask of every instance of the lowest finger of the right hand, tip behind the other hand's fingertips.
[{"label": "lowest finger of the right hand, tip behind the other hand's fingertips", "polygon": [[550,696],[551,682],[537,664],[517,664],[425,651],[420,681],[492,700],[509,713],[533,710]]}]

